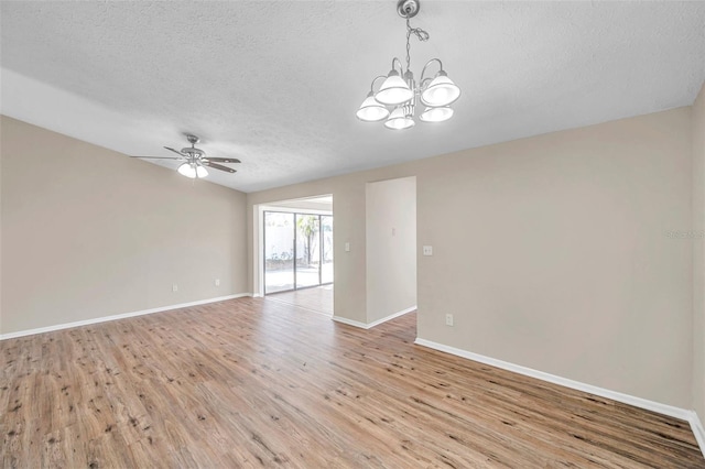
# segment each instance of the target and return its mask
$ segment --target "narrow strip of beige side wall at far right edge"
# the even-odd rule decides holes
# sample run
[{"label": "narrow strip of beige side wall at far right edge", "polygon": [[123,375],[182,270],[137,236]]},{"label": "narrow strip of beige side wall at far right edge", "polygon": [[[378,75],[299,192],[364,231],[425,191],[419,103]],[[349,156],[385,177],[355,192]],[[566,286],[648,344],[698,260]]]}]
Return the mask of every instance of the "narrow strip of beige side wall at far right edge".
[{"label": "narrow strip of beige side wall at far right edge", "polygon": [[693,105],[693,407],[705,422],[705,84]]}]

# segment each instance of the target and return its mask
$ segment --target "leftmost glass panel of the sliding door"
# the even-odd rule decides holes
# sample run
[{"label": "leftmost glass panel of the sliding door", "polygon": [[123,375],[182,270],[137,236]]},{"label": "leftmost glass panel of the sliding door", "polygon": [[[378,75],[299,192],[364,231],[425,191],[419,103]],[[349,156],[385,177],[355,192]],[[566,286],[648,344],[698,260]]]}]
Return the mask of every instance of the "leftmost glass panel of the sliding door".
[{"label": "leftmost glass panel of the sliding door", "polygon": [[294,214],[264,212],[264,294],[294,288]]}]

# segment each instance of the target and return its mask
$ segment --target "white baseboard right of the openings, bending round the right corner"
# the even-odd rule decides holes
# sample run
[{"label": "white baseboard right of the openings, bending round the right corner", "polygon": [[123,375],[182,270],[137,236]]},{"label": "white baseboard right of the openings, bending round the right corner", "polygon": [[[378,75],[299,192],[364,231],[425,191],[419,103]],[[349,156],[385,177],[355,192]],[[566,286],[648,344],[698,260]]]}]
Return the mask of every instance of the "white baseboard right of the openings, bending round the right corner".
[{"label": "white baseboard right of the openings, bending round the right corner", "polygon": [[474,353],[467,350],[457,349],[455,347],[445,346],[443,343],[433,342],[431,340],[416,338],[414,343],[429,347],[434,350],[451,353],[457,357],[467,358],[468,360],[477,361],[480,363],[489,364],[491,367],[501,368],[503,370],[512,371],[514,373],[523,374],[525,377],[535,378],[542,381],[547,381],[553,384],[558,384],[565,388],[587,392],[600,397],[610,399],[612,401],[621,402],[625,404],[633,405],[634,407],[646,408],[647,411],[657,412],[659,414],[668,415],[674,418],[688,422],[695,439],[705,456],[705,430],[703,425],[694,411],[687,411],[685,408],[675,407],[673,405],[662,404],[655,401],[649,401],[647,399],[637,397],[629,394],[623,394],[617,391],[607,390],[604,388],[594,386],[592,384],[582,383],[579,381],[570,380],[567,378],[556,377],[555,374],[545,373],[543,371],[534,370],[531,368],[522,367],[520,364],[510,363],[508,361],[497,360],[495,358],[486,357],[484,355]]}]

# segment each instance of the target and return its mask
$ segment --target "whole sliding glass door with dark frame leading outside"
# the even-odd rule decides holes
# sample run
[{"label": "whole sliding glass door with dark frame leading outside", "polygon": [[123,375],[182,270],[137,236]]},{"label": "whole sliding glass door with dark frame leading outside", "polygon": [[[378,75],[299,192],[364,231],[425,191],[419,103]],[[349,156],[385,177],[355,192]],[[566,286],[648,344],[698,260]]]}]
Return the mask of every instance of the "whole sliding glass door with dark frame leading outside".
[{"label": "whole sliding glass door with dark frame leading outside", "polygon": [[333,217],[264,211],[264,294],[333,283]]}]

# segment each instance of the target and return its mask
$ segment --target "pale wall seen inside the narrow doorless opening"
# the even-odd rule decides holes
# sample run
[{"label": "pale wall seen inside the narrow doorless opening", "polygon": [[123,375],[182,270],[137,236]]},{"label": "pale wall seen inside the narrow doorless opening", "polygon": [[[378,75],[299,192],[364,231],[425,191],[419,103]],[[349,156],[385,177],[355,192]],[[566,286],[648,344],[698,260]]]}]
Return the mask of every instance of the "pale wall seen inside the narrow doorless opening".
[{"label": "pale wall seen inside the narrow doorless opening", "polygon": [[416,306],[416,178],[366,186],[367,324]]}]

